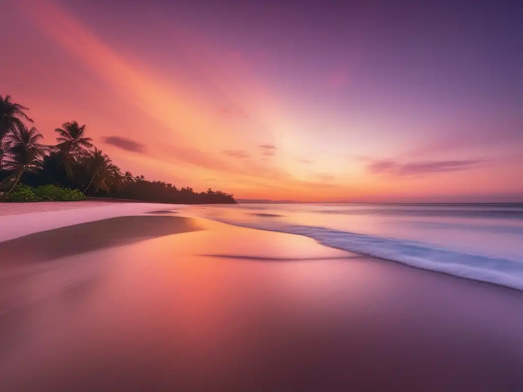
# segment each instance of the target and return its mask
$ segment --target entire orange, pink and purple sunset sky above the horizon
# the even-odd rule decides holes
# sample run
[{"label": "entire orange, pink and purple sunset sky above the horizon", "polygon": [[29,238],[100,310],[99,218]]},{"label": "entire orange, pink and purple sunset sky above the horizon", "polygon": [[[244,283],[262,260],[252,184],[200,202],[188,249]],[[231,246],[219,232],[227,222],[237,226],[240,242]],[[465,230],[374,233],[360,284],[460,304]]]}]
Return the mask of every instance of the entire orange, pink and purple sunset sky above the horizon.
[{"label": "entire orange, pink and purple sunset sky above the horizon", "polygon": [[523,6],[426,3],[0,0],[0,95],[195,190],[523,201]]}]

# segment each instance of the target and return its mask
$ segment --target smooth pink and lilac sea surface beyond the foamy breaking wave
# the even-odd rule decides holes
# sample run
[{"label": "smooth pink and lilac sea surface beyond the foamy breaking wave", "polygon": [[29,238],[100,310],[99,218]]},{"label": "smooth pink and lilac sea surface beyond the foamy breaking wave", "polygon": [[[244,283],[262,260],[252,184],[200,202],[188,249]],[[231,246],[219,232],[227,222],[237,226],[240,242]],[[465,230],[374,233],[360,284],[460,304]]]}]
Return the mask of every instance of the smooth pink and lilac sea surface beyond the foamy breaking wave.
[{"label": "smooth pink and lilac sea surface beyond the foamy breaking wave", "polygon": [[[192,207],[190,207],[192,208]],[[520,205],[265,204],[197,207],[238,224],[303,225],[418,241],[494,258],[523,260]]]}]

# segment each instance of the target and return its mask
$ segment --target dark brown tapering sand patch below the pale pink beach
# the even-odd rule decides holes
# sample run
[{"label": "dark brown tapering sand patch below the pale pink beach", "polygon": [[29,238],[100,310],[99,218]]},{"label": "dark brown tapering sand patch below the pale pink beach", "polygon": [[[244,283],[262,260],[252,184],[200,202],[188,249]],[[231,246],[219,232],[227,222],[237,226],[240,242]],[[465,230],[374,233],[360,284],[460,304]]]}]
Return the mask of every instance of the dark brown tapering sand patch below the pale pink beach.
[{"label": "dark brown tapering sand patch below the pale pink beach", "polygon": [[197,230],[201,228],[195,220],[181,216],[120,216],[60,227],[0,243],[0,265],[53,260]]}]

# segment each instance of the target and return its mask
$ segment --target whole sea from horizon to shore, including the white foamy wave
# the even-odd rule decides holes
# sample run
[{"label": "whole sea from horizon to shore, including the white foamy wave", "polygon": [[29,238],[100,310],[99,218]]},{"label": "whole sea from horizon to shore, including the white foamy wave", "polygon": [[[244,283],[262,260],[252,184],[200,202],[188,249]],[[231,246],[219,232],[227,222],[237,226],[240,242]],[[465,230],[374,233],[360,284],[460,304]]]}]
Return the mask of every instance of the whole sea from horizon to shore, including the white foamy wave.
[{"label": "whole sea from horizon to shore, including the white foamy wave", "polygon": [[523,204],[241,204],[184,211],[523,290]]}]

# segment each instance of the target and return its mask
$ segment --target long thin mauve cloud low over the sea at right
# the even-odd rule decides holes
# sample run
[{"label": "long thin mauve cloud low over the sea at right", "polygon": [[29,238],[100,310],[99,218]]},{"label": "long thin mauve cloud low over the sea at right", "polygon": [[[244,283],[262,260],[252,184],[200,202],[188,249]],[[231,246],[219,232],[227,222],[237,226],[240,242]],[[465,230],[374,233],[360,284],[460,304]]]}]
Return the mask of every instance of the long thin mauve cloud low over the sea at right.
[{"label": "long thin mauve cloud low over the sea at right", "polygon": [[374,160],[367,165],[367,170],[374,174],[391,174],[400,177],[428,176],[449,171],[461,171],[476,168],[484,159],[437,160],[398,163],[394,160]]}]

